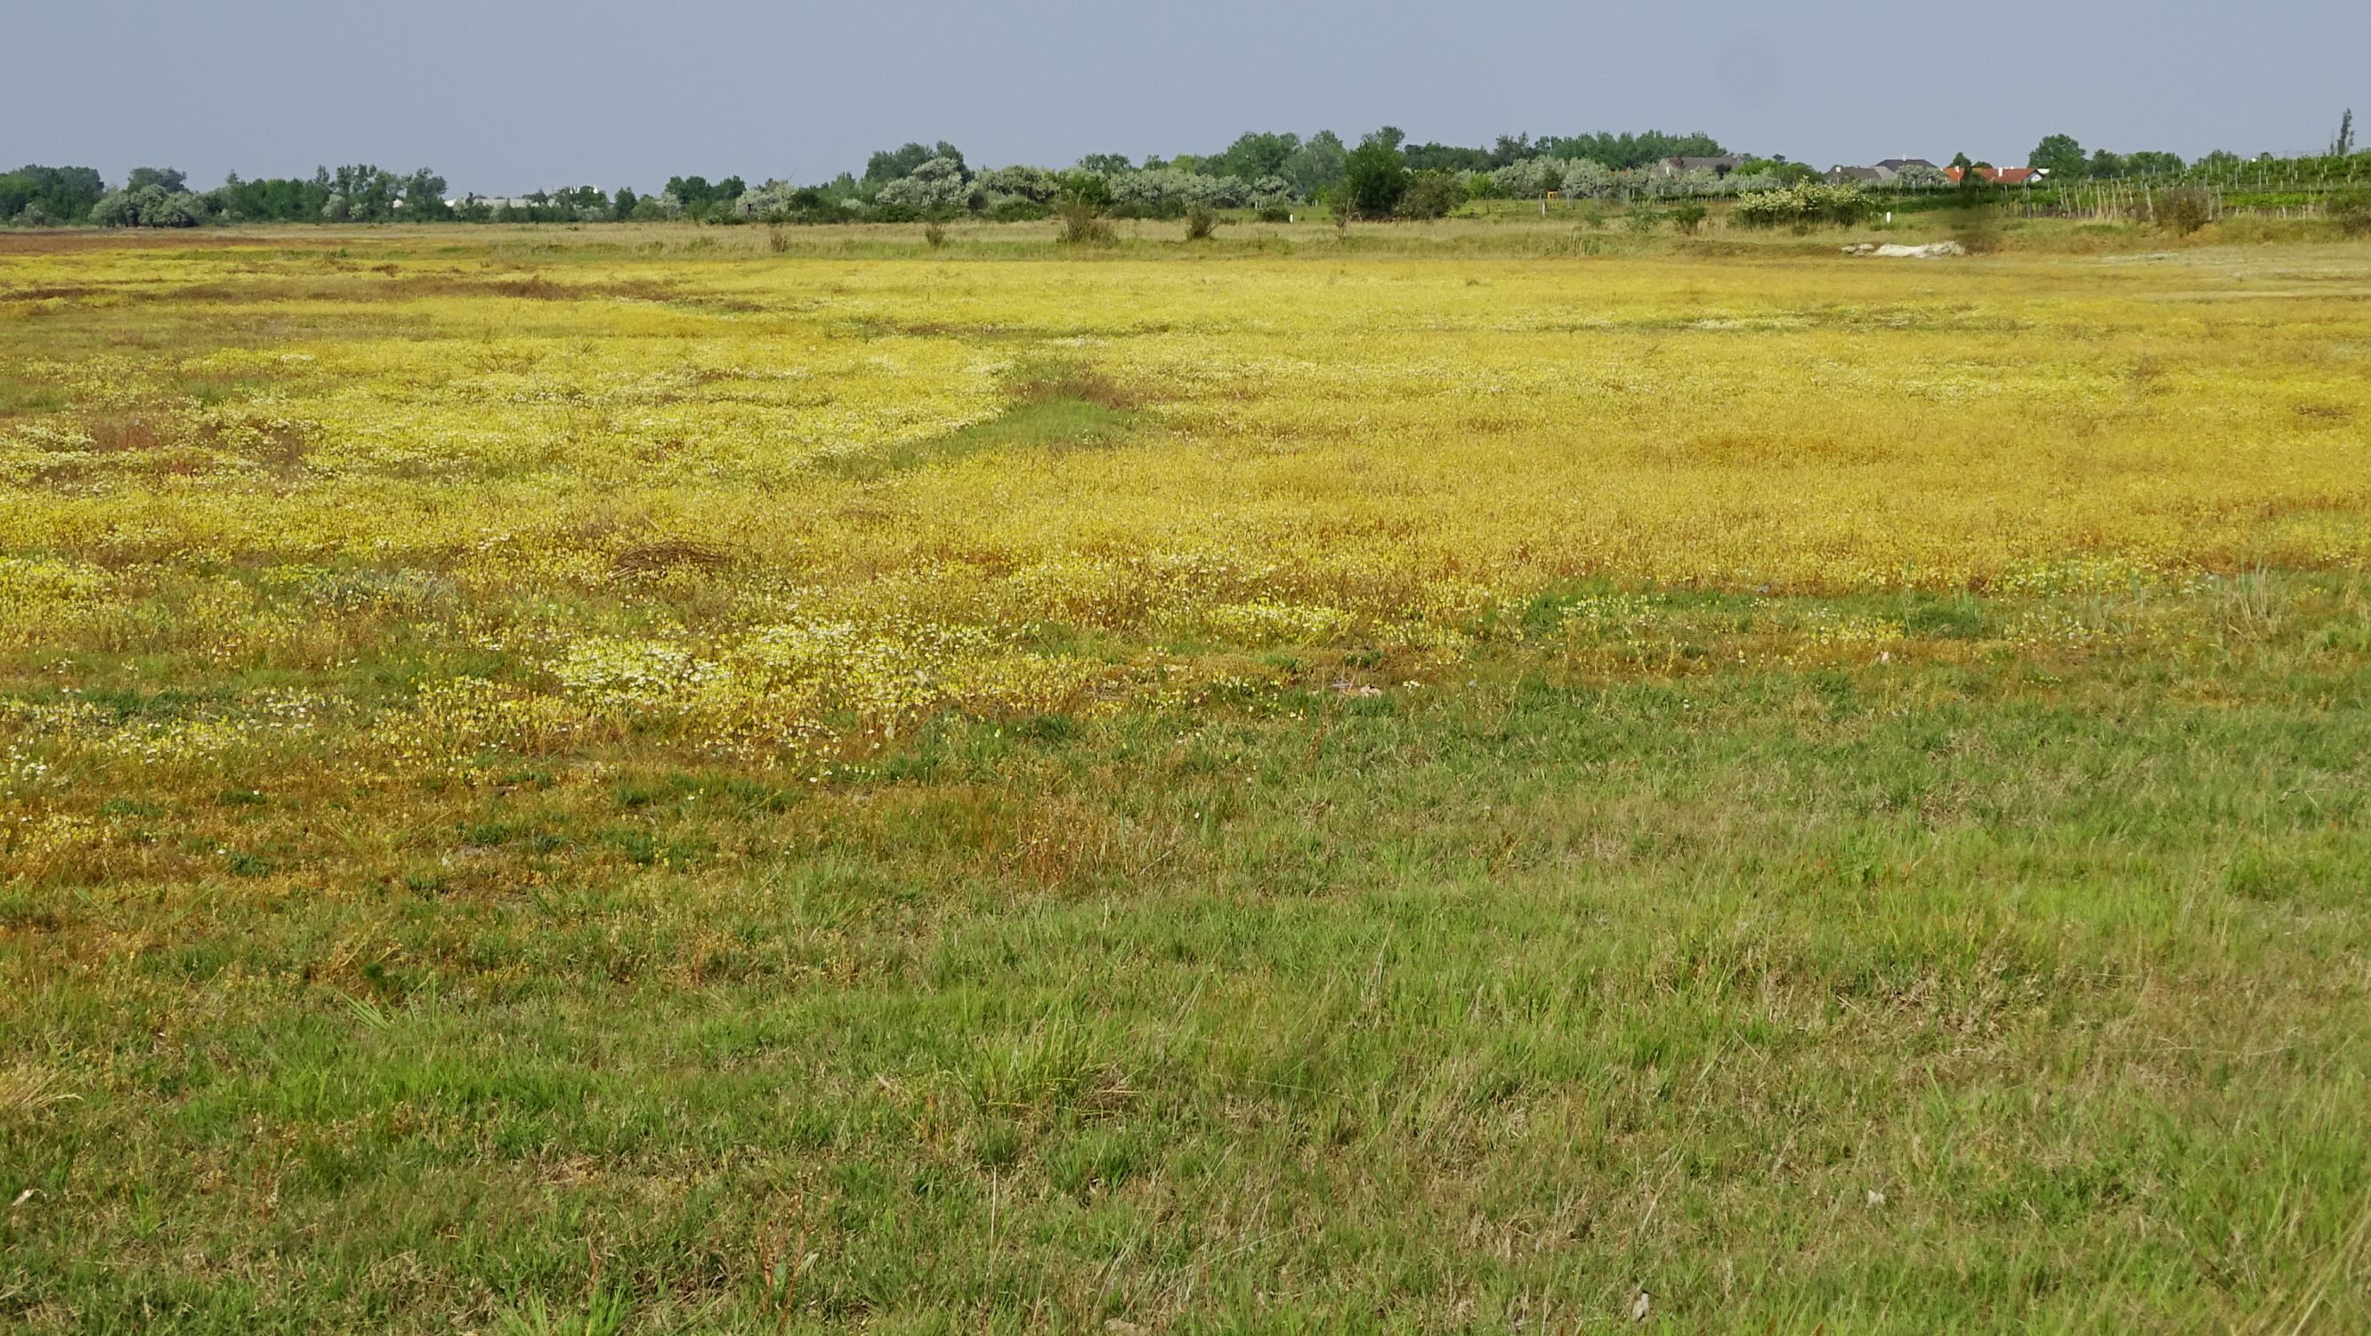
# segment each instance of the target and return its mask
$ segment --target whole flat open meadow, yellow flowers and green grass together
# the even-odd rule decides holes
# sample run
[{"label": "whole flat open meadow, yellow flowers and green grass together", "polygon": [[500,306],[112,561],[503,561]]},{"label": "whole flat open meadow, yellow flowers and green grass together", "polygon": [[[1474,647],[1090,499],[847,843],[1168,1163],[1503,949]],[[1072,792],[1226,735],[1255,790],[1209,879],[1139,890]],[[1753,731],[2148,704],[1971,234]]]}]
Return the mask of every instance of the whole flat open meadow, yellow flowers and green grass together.
[{"label": "whole flat open meadow, yellow flowers and green grass together", "polygon": [[2371,1327],[2371,244],[1043,235],[0,237],[0,1327]]}]

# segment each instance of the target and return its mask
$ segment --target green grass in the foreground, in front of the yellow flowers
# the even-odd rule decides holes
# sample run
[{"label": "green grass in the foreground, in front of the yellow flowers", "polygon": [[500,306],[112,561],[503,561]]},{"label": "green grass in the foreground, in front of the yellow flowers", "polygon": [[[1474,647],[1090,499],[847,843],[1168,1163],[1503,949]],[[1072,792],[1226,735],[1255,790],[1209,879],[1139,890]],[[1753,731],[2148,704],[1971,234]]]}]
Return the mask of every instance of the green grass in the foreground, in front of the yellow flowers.
[{"label": "green grass in the foreground, in front of the yellow flowers", "polygon": [[0,1324],[2354,1329],[2371,603],[2184,607],[522,769],[394,885],[232,776],[303,892],[0,895]]}]

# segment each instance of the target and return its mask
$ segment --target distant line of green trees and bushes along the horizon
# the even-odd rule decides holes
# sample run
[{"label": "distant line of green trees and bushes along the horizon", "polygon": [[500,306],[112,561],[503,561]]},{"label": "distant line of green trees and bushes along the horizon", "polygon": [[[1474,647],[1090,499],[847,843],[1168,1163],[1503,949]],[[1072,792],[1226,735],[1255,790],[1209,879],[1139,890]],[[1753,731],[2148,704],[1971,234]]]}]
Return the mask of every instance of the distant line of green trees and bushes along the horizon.
[{"label": "distant line of green trees and bushes along the horizon", "polygon": [[[1956,166],[1970,164],[1966,154]],[[2314,159],[2243,159],[2215,152],[2184,161],[2169,152],[2084,149],[2072,135],[2049,135],[2027,159],[2046,180],[2153,178],[2257,187],[2328,187],[2371,180],[2371,154],[2354,152],[2354,116],[2340,121],[2331,149]],[[977,171],[939,140],[875,152],[863,173],[820,185],[740,176],[673,176],[654,195],[590,185],[519,197],[448,197],[429,168],[394,173],[370,164],[315,168],[311,178],[242,180],[190,190],[175,168],[135,168],[109,190],[88,166],[24,166],[0,173],[0,225],[194,228],[204,223],[846,223],[979,216],[1001,221],[1084,211],[1112,218],[1178,218],[1193,211],[1250,209],[1283,218],[1325,204],[1340,216],[1434,218],[1468,199],[1667,199],[1764,195],[1816,183],[1807,164],[1785,157],[1731,157],[1702,133],[1672,135],[1498,135],[1489,147],[1423,142],[1385,126],[1356,145],[1333,131],[1302,138],[1252,131],[1212,154],[1171,159],[1088,154],[1067,168],[998,166]],[[1906,166],[1894,192],[1939,190],[1942,171]],[[1963,190],[1975,185],[1963,183]]]}]

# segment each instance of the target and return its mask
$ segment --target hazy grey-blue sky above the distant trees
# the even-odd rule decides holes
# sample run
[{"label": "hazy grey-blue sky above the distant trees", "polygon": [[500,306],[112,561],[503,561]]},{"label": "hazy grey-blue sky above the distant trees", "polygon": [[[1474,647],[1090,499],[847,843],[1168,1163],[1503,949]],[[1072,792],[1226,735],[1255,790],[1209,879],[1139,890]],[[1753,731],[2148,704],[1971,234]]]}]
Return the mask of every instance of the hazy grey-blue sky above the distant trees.
[{"label": "hazy grey-blue sky above the distant trees", "polygon": [[2371,116],[2362,0],[0,0],[0,168],[209,185],[339,161],[479,192],[816,183],[903,140],[1067,164],[1387,121],[2006,164],[2051,131],[2252,154]]}]

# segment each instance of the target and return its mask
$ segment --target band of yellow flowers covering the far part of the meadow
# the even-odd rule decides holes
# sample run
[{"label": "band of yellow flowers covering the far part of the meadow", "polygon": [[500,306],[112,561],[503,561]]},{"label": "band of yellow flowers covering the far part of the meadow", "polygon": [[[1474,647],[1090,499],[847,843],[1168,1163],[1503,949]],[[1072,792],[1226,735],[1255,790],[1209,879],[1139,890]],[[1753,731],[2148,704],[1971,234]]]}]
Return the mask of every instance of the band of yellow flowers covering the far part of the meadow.
[{"label": "band of yellow flowers covering the far part of the meadow", "polygon": [[[334,717],[356,764],[631,729],[811,764],[939,710],[1193,691],[1273,650],[1439,662],[1572,581],[1996,591],[2371,558],[2350,252],[486,249],[0,261],[0,645],[28,674],[218,688],[140,738],[19,702],[21,755]],[[436,667],[363,700],[346,667],[386,636]]]}]

